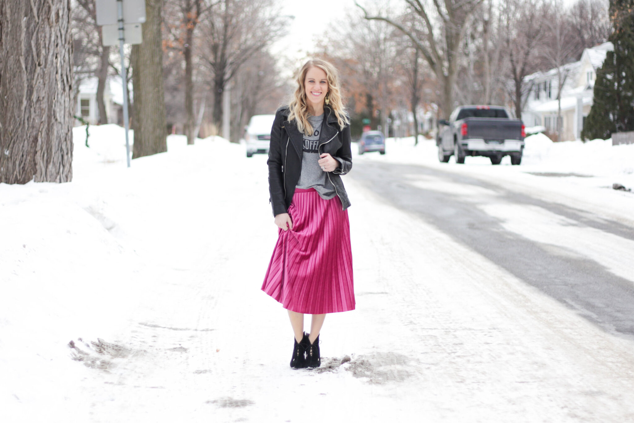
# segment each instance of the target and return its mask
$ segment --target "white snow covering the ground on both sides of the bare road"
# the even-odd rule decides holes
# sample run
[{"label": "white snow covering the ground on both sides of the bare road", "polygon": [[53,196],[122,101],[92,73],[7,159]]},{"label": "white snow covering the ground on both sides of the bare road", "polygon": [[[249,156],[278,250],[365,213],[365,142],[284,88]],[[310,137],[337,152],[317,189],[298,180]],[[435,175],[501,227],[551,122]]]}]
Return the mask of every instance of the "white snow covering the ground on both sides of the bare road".
[{"label": "white snow covering the ground on both sides of the bare road", "polygon": [[[84,131],[72,183],[0,185],[3,421],[634,420],[633,341],[347,177],[358,309],[328,316],[320,369],[291,370],[287,315],[259,290],[276,240],[266,157],[170,136],[169,152],[127,169],[122,129],[91,126],[90,148]],[[491,166],[441,164],[433,142],[390,139],[384,156],[354,160],[634,219],[634,193],[611,189],[634,187],[634,146],[537,135],[521,166]],[[523,230],[517,210],[487,210]],[[629,263],[606,266],[633,279]]]}]

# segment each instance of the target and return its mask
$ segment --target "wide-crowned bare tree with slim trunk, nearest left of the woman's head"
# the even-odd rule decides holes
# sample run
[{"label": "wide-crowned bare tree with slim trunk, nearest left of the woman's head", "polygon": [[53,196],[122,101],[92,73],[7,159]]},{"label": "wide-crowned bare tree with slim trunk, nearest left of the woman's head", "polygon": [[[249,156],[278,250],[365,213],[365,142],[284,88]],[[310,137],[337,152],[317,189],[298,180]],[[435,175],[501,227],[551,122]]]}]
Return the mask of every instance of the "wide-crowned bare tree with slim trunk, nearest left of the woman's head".
[{"label": "wide-crowned bare tree with slim trunk, nearest left of the woman's head", "polygon": [[207,51],[201,53],[213,73],[213,122],[223,122],[223,93],[243,63],[282,36],[285,17],[273,0],[222,0],[205,15]]}]

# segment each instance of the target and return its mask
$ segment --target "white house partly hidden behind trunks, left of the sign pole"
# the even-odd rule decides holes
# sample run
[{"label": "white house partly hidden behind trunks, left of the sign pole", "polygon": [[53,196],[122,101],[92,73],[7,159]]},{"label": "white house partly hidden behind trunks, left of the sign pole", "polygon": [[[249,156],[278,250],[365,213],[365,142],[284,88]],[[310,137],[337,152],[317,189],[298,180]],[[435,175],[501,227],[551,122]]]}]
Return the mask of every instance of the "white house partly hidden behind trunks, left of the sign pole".
[{"label": "white house partly hidden behind trunks, left of the sign pole", "polygon": [[[97,77],[83,79],[79,83],[77,94],[77,107],[75,115],[86,119],[89,124],[99,123],[99,107],[97,106]],[[108,77],[103,93],[103,101],[106,103],[106,114],[109,124],[123,124],[121,110],[123,105],[123,86],[120,77]],[[75,119],[75,126],[82,123]]]}]

